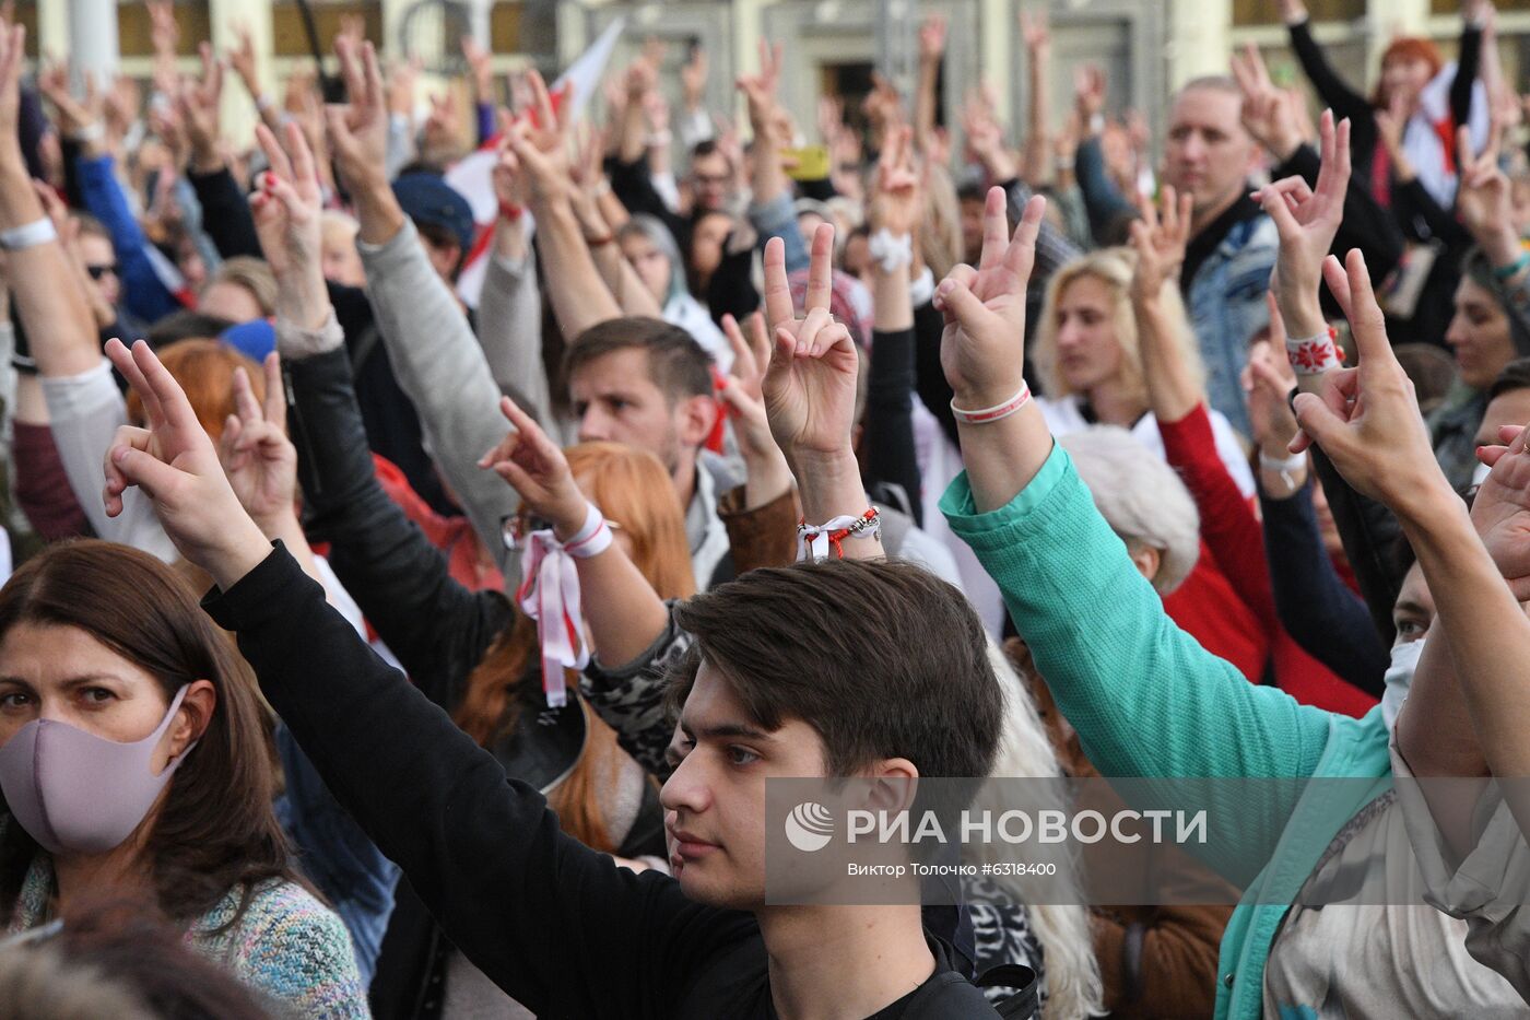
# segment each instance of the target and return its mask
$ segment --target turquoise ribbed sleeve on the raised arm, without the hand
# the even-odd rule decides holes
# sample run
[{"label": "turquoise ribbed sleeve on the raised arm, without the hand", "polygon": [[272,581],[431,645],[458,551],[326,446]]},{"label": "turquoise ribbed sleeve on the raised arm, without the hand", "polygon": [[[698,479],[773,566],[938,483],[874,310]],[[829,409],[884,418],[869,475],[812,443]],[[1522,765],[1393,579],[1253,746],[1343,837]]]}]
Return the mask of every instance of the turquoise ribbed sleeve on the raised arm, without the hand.
[{"label": "turquoise ribbed sleeve on the raised arm, without the hand", "polygon": [[[1248,683],[1175,626],[1062,447],[1005,507],[978,513],[964,473],[941,512],[998,582],[1037,671],[1103,775],[1314,772],[1328,714]],[[1207,859],[1235,881],[1270,856],[1294,806],[1296,784],[1265,786],[1265,796],[1226,824],[1212,822]]]}]

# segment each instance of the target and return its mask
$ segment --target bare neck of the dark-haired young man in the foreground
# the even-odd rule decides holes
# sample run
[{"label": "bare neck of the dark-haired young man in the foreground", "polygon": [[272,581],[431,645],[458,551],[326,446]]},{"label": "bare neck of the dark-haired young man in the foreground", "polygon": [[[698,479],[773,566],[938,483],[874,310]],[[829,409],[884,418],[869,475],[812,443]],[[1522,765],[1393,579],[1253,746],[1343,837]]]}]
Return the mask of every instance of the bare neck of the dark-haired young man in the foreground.
[{"label": "bare neck of the dark-haired young man in the foreground", "polygon": [[935,973],[918,905],[757,911],[782,1020],[864,1020]]}]

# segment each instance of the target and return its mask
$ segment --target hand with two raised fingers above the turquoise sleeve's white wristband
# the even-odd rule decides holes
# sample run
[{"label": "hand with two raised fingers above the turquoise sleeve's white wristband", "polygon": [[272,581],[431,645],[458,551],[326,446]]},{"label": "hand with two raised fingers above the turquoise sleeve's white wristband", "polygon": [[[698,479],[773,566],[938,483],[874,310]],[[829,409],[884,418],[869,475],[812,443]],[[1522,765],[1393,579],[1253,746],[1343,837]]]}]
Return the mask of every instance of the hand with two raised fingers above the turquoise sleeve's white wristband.
[{"label": "hand with two raised fingers above the turquoise sleeve's white wristband", "polygon": [[1013,237],[1007,207],[1004,188],[990,188],[978,268],[958,265],[935,288],[935,306],[946,317],[941,369],[956,404],[968,410],[1007,401],[1025,384],[1025,285],[1047,199],[1027,202]]}]

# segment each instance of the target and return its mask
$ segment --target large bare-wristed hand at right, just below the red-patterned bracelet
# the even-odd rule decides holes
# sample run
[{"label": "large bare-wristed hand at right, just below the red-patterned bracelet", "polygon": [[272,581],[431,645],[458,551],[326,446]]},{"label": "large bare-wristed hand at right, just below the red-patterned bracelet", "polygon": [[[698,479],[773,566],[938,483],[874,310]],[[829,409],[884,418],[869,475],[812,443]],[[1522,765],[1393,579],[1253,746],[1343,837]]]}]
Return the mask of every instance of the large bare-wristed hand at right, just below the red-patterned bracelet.
[{"label": "large bare-wristed hand at right, just below the red-patterned bracelet", "polygon": [[1323,277],[1349,320],[1360,363],[1328,372],[1319,394],[1296,397],[1302,430],[1291,452],[1317,443],[1351,485],[1406,518],[1408,507],[1438,496],[1449,482],[1435,463],[1414,384],[1386,338],[1365,256],[1353,250],[1343,266],[1330,256]]}]

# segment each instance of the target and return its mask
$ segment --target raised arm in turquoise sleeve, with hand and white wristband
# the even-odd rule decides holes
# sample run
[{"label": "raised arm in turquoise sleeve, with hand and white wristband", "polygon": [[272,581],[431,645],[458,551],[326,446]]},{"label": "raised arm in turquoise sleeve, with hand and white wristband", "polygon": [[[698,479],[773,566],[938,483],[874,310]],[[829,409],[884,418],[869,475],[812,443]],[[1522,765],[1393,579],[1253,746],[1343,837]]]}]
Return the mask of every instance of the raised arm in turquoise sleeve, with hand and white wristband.
[{"label": "raised arm in turquoise sleeve, with hand and white wristband", "polygon": [[[1011,239],[1002,191],[988,195],[984,253],[936,288],[946,314],[941,363],[955,391],[965,478],[941,501],[998,580],[1021,636],[1106,775],[1310,775],[1328,717],[1244,682],[1180,631],[1094,508],[1068,455],[1054,449],[1024,381],[1025,285],[1043,202]],[[1079,619],[1108,605],[1111,640]],[[1121,685],[1118,662],[1152,663]],[[1238,724],[1233,720],[1245,720]],[[1154,732],[1143,741],[1141,732]],[[1238,873],[1267,855],[1291,809],[1276,799],[1238,839]]]}]

